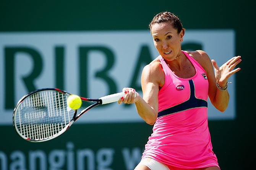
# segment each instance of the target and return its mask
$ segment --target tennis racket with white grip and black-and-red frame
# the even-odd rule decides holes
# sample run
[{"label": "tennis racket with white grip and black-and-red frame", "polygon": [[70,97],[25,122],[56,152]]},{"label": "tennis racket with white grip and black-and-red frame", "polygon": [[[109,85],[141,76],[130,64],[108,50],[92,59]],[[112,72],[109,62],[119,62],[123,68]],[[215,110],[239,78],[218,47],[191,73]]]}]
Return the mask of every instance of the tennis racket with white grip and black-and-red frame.
[{"label": "tennis racket with white grip and black-and-red frame", "polygon": [[80,97],[93,102],[80,113],[67,105],[71,94],[56,88],[39,89],[24,95],[13,111],[13,126],[25,140],[42,142],[58,137],[80,116],[98,105],[117,102],[123,92],[107,95],[99,99]]}]

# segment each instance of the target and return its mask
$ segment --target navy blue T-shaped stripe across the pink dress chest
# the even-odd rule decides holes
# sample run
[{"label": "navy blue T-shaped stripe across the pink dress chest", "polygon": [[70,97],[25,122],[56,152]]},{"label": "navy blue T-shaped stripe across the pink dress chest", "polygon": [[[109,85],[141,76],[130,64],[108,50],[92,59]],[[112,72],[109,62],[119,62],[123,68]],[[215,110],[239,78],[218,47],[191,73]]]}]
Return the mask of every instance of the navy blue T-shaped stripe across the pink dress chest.
[{"label": "navy blue T-shaped stripe across the pink dress chest", "polygon": [[161,116],[165,116],[167,114],[177,113],[177,112],[192,109],[192,108],[207,107],[206,100],[196,98],[193,80],[191,79],[188,82],[190,84],[190,99],[188,99],[185,102],[180,103],[176,106],[172,106],[168,109],[160,111],[157,115],[157,118],[159,118]]}]

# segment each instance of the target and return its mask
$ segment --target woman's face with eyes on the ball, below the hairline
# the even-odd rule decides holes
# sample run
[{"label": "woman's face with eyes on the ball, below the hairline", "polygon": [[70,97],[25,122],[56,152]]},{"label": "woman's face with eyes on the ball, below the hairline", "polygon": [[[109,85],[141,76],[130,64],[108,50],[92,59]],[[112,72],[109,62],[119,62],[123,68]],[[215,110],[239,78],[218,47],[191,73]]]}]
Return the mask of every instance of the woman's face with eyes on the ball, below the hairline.
[{"label": "woman's face with eyes on the ball, below the hairline", "polygon": [[151,34],[154,45],[164,59],[172,61],[181,52],[181,42],[184,32],[178,33],[169,22],[154,24],[151,26]]}]

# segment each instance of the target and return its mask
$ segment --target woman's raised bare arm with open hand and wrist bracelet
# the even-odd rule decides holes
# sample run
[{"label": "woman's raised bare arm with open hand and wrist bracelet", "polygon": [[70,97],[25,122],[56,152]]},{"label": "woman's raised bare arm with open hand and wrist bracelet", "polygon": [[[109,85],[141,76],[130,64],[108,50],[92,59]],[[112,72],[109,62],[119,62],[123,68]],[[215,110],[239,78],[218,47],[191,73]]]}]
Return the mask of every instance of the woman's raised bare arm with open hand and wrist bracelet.
[{"label": "woman's raised bare arm with open hand and wrist bracelet", "polygon": [[[223,112],[228,106],[229,94],[227,90],[220,90],[216,86],[216,81],[219,84],[220,88],[225,87],[227,85],[228,78],[237,71],[241,70],[241,68],[236,68],[235,70],[233,70],[233,68],[235,68],[235,66],[241,62],[241,56],[233,57],[225,62],[222,66],[218,67],[215,60],[211,60],[206,52],[201,50],[197,52],[201,54],[200,64],[203,66],[207,74],[209,82],[209,99],[211,100],[211,103],[215,106],[215,108]],[[212,68],[212,65],[214,67],[214,70]]]}]

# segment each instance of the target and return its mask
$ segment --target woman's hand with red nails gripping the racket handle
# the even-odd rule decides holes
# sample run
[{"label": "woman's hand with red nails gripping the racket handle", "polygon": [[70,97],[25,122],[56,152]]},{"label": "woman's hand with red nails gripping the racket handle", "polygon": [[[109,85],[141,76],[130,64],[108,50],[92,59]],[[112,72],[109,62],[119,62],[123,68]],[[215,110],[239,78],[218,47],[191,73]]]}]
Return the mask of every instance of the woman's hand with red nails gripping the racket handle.
[{"label": "woman's hand with red nails gripping the racket handle", "polygon": [[118,104],[120,103],[131,104],[131,103],[138,102],[140,95],[138,92],[135,91],[135,89],[126,87],[126,88],[123,88],[123,93],[124,95],[120,97],[120,99],[118,100]]}]

